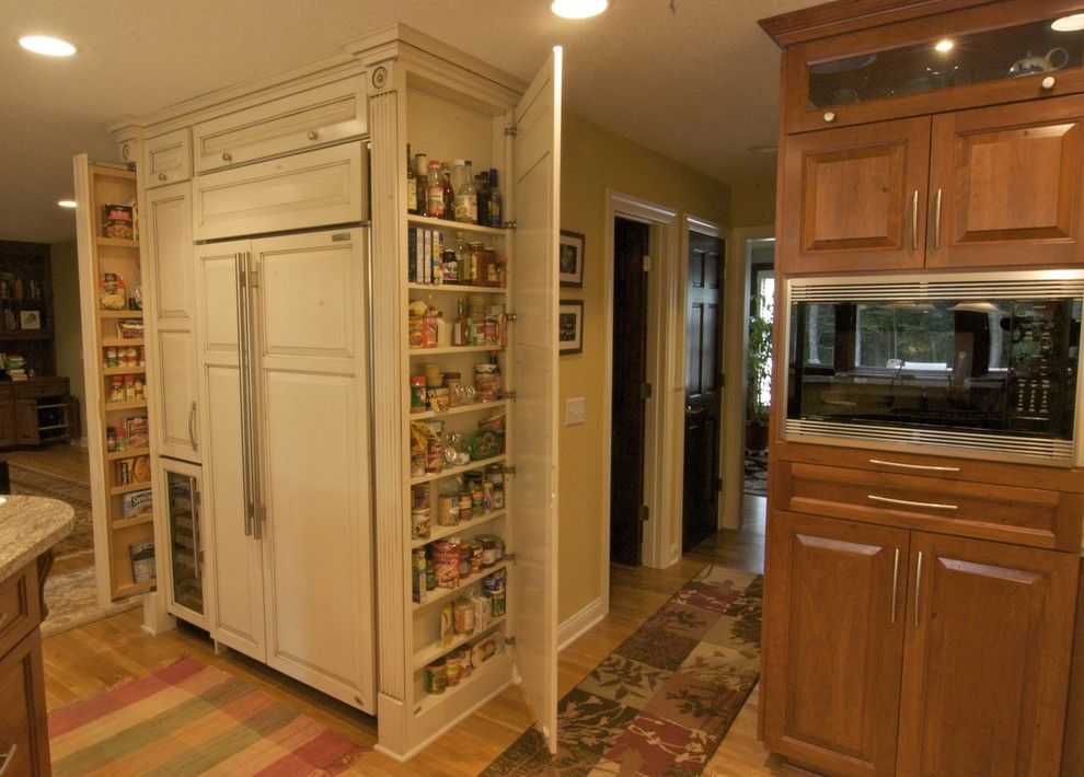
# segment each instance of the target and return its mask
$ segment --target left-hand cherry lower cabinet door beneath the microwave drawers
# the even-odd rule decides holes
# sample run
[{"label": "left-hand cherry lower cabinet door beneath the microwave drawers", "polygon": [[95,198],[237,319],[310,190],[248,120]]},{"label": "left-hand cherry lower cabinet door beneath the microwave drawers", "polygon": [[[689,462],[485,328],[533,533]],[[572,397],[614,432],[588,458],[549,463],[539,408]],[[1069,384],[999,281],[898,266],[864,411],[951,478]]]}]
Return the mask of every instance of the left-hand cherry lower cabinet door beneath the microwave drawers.
[{"label": "left-hand cherry lower cabinet door beneath the microwave drawers", "polygon": [[892,774],[909,534],[769,517],[762,665],[772,752],[827,774]]}]

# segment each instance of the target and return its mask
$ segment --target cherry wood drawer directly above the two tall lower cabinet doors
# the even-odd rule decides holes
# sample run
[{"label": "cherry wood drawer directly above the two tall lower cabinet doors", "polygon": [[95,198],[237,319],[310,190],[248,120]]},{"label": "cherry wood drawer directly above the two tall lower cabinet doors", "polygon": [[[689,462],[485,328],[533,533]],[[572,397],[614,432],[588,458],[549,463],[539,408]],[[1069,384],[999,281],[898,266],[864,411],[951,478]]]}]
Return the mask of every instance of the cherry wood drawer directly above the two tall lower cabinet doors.
[{"label": "cherry wood drawer directly above the two tall lower cabinet doors", "polygon": [[1080,494],[782,462],[777,508],[1035,547],[1080,548]]}]

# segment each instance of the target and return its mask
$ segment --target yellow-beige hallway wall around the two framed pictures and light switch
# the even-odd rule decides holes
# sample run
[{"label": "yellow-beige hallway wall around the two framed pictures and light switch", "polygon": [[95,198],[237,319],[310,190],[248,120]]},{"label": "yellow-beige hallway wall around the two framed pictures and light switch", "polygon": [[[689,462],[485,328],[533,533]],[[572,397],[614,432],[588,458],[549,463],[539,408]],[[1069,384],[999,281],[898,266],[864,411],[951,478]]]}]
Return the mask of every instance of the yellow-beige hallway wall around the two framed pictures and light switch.
[{"label": "yellow-beige hallway wall around the two framed pictures and light switch", "polygon": [[[602,514],[603,241],[607,189],[728,225],[729,194],[717,181],[620,138],[576,116],[562,117],[561,228],[586,235],[584,288],[562,289],[563,299],[585,300],[584,351],[561,357],[561,480],[558,525],[560,622],[601,596],[599,558]],[[564,426],[565,401],[586,399],[586,421]]]}]

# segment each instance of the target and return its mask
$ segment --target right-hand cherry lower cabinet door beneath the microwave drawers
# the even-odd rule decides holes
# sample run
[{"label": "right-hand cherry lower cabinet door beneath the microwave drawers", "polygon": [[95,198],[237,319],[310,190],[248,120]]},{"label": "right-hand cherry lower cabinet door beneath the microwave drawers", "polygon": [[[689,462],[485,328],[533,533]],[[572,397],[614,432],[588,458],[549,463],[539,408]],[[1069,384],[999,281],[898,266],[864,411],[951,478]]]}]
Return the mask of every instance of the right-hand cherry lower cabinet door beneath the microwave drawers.
[{"label": "right-hand cherry lower cabinet door beneath the microwave drawers", "polygon": [[1079,563],[912,534],[898,775],[1058,774]]}]

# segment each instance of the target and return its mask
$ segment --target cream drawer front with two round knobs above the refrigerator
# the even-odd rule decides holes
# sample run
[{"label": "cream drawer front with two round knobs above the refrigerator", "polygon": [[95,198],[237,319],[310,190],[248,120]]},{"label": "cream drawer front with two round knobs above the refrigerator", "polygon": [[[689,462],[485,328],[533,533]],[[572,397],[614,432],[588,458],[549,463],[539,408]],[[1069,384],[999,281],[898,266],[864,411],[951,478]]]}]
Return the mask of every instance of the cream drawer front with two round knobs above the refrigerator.
[{"label": "cream drawer front with two round knobs above the refrigerator", "polygon": [[196,173],[356,138],[368,129],[360,77],[197,124]]}]

